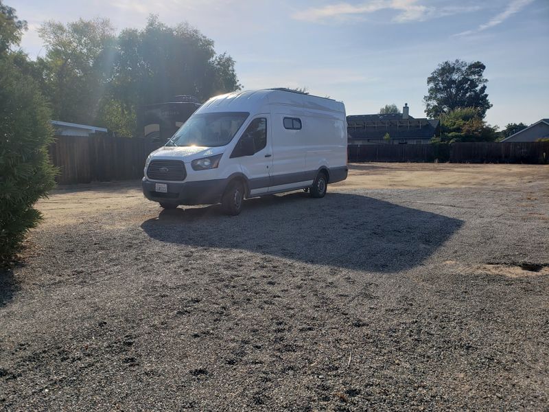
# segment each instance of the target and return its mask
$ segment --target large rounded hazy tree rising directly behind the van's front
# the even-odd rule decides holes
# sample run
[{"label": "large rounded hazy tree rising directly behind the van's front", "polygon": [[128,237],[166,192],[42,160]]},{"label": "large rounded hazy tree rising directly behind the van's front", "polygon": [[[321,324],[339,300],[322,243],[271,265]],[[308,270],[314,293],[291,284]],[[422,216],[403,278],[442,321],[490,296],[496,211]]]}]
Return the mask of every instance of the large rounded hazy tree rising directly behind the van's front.
[{"label": "large rounded hazy tree rising directly behind the van's front", "polygon": [[170,27],[150,16],[143,30],[126,29],[118,37],[108,93],[129,119],[174,95],[207,100],[241,88],[233,58],[216,55],[213,41],[188,24]]}]

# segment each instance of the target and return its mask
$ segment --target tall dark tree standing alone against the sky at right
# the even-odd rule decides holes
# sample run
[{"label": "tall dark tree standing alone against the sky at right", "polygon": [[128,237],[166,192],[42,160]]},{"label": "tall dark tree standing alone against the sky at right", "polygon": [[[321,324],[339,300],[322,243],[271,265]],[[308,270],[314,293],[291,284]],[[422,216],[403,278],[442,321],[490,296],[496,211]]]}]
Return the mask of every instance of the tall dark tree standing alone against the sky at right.
[{"label": "tall dark tree standing alone against the sky at right", "polygon": [[425,113],[428,117],[439,117],[456,108],[474,107],[484,118],[492,104],[488,100],[488,80],[483,73],[482,62],[442,62],[427,78],[428,95],[425,95]]}]

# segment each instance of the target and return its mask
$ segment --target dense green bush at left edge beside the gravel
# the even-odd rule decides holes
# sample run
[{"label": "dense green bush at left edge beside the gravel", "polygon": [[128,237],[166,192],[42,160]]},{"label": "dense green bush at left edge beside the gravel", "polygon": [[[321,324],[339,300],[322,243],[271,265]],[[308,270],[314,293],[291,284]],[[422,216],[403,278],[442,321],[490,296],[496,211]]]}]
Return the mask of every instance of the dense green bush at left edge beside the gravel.
[{"label": "dense green bush at left edge beside the gravel", "polygon": [[25,233],[40,221],[32,206],[54,187],[47,146],[53,137],[49,108],[38,86],[0,60],[0,266],[12,262]]}]

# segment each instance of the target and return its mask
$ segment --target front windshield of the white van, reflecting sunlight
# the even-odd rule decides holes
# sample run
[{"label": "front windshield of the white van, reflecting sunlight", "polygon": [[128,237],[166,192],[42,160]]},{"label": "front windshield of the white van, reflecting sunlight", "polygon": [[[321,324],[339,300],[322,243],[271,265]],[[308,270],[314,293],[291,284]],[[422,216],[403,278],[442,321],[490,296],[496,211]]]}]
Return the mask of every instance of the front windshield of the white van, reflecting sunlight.
[{"label": "front windshield of the white van, reflecting sunlight", "polygon": [[199,113],[177,130],[166,146],[225,146],[235,137],[250,113]]}]

